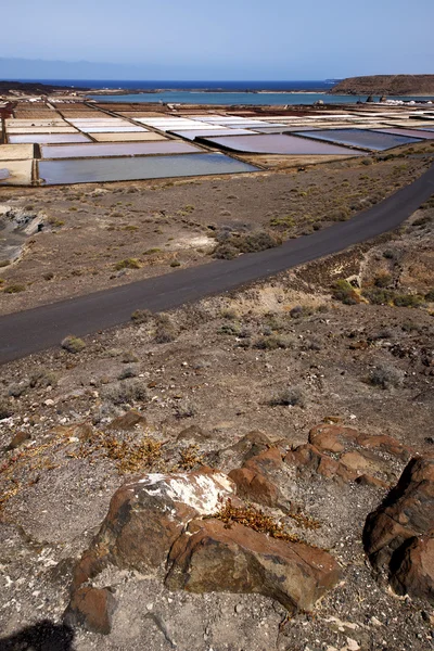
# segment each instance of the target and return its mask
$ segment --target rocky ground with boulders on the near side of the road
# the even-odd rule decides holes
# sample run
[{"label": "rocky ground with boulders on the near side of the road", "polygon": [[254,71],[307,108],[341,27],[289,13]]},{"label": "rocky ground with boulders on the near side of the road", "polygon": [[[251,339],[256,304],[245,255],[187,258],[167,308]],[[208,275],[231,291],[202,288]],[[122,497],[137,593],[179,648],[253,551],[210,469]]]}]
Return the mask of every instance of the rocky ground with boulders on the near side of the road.
[{"label": "rocky ground with boulders on the near side of the road", "polygon": [[432,648],[433,224],[3,366],[0,648]]}]

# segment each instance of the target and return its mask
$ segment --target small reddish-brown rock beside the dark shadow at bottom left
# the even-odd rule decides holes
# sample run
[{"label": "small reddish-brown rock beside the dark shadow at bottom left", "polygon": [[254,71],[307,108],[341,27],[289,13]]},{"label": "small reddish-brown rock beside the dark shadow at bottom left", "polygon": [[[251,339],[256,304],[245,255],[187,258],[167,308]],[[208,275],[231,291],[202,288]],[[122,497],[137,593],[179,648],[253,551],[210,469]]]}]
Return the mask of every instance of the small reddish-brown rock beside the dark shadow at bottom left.
[{"label": "small reddish-brown rock beside the dark shadow at bottom left", "polygon": [[73,595],[64,621],[69,626],[78,624],[87,630],[107,635],[115,607],[115,599],[107,588],[80,588]]}]

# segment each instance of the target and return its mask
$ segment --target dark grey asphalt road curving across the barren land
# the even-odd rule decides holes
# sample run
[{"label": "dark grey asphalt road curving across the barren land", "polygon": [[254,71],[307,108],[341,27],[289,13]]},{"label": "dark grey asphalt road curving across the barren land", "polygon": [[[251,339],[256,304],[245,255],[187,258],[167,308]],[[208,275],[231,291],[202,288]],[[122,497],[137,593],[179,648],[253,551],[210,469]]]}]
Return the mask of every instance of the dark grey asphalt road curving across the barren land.
[{"label": "dark grey asphalt road curving across the barren land", "polygon": [[56,346],[67,334],[120,326],[135,309],[167,310],[233,290],[309,260],[337,253],[397,228],[434,194],[434,165],[380,204],[278,248],[183,269],[0,317],[0,363]]}]

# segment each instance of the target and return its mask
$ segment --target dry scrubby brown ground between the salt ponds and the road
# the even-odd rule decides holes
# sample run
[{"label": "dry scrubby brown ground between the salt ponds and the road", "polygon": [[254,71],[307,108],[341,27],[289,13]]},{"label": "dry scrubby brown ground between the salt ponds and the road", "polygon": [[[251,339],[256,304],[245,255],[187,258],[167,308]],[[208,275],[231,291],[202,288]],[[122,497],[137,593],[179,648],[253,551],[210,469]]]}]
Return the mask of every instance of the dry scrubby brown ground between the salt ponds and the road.
[{"label": "dry scrubby brown ground between the salt ponds and the road", "polygon": [[204,264],[217,246],[227,256],[232,244],[255,251],[327,228],[420,176],[431,162],[421,152],[434,143],[304,167],[290,156],[278,173],[230,178],[4,189],[0,310]]}]

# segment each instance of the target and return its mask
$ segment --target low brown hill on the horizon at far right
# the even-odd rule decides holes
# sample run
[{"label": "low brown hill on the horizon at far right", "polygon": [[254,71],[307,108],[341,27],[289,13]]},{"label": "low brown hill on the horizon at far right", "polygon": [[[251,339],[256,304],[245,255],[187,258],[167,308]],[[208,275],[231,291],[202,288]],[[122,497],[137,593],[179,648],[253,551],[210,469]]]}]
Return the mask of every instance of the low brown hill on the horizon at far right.
[{"label": "low brown hill on the horizon at far right", "polygon": [[348,77],[334,86],[329,92],[331,94],[434,97],[434,75]]}]

